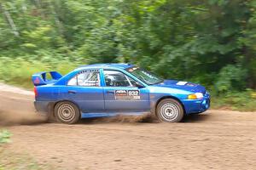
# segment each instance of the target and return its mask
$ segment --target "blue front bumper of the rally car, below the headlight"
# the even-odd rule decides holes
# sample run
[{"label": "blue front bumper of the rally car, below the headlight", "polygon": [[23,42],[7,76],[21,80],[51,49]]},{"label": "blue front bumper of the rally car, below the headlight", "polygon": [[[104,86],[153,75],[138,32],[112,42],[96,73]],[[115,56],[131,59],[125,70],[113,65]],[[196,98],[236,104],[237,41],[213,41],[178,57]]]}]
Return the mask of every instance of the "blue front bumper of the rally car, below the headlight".
[{"label": "blue front bumper of the rally car, below the headlight", "polygon": [[207,111],[211,105],[211,99],[209,96],[203,99],[183,99],[182,100],[186,114],[201,113]]}]

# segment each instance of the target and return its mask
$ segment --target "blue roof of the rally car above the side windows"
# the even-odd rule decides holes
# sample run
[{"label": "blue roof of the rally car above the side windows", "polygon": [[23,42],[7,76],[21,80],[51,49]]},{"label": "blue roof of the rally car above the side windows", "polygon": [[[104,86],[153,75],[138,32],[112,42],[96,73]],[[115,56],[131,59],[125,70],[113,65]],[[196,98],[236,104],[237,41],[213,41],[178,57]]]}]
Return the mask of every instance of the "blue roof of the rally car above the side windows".
[{"label": "blue roof of the rally car above the side windows", "polygon": [[134,65],[131,64],[125,64],[125,63],[105,63],[105,64],[95,64],[95,65],[81,65],[76,70],[82,70],[82,69],[101,69],[101,68],[119,68],[122,70],[125,70],[127,68],[130,68]]}]

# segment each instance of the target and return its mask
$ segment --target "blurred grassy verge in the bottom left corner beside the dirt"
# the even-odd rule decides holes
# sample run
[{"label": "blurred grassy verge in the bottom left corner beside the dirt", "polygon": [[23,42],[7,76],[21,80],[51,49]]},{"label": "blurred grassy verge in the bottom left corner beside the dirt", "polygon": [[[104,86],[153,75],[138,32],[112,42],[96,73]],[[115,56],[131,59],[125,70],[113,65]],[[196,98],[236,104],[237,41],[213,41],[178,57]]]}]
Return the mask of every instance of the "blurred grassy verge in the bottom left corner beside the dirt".
[{"label": "blurred grassy verge in the bottom left corner beside the dirt", "polygon": [[41,170],[53,169],[49,165],[38,164],[37,161],[24,153],[17,154],[11,150],[9,144],[11,133],[7,130],[0,131],[0,170]]}]

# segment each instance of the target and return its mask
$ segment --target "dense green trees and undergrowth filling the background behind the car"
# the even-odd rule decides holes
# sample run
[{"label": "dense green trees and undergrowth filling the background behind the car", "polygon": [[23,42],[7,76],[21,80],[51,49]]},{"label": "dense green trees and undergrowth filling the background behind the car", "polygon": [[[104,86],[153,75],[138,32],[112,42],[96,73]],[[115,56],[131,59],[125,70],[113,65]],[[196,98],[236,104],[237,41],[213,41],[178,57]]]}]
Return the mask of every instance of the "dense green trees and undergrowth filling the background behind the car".
[{"label": "dense green trees and undergrowth filling the background behind the car", "polygon": [[247,0],[0,1],[0,79],[131,62],[213,94],[256,89],[256,3]]}]

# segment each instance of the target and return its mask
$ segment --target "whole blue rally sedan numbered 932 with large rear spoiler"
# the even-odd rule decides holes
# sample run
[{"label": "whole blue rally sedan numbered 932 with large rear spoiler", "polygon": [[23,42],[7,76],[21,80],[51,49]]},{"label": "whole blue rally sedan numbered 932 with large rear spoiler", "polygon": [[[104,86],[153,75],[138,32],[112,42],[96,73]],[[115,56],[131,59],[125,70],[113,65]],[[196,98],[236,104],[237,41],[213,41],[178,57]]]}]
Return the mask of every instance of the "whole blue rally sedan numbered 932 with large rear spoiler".
[{"label": "whole blue rally sedan numbered 932 with large rear spoiler", "polygon": [[210,95],[192,82],[163,80],[130,64],[83,65],[66,76],[56,71],[32,75],[36,110],[57,122],[80,118],[155,114],[161,122],[207,111]]}]

